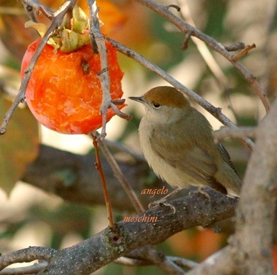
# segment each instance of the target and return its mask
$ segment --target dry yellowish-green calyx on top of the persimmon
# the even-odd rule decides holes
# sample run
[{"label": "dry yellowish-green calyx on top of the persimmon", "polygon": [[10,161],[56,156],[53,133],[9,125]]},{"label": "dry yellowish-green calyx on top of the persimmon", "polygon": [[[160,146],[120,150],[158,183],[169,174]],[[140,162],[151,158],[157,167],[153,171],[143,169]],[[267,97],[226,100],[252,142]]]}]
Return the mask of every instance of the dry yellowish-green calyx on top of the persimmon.
[{"label": "dry yellowish-green calyx on top of the persimmon", "polygon": [[[70,21],[68,16],[68,14],[65,15],[62,25],[47,42],[54,48],[54,53],[58,49],[61,52],[71,52],[90,43],[89,33],[84,33],[89,28],[89,19],[85,12],[76,4],[72,10],[71,26],[68,26]],[[42,37],[47,30],[44,24],[32,21],[26,22],[25,27],[36,29]]]}]

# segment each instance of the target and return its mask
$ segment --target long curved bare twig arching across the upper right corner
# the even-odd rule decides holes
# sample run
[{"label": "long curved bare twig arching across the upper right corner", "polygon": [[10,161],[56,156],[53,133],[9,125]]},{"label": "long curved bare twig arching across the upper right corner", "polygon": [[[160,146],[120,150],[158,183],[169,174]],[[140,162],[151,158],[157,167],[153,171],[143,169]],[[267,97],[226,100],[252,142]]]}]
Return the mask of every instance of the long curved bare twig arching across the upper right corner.
[{"label": "long curved bare twig arching across the upper right corner", "polygon": [[192,36],[199,38],[200,40],[204,41],[211,49],[217,51],[219,54],[223,55],[229,62],[231,62],[234,67],[236,67],[246,78],[249,84],[253,87],[256,91],[257,95],[260,97],[266,111],[268,112],[270,109],[270,103],[264,91],[261,89],[260,85],[258,84],[256,77],[247,70],[241,63],[238,61],[233,60],[233,55],[229,53],[224,46],[214,40],[212,37],[200,32],[196,28],[189,25],[187,22],[184,22],[181,18],[174,15],[167,6],[164,6],[160,3],[154,2],[153,0],[136,0],[141,5],[146,6],[163,17],[167,18],[170,22],[172,22],[179,30],[183,33],[187,33],[190,31]]}]

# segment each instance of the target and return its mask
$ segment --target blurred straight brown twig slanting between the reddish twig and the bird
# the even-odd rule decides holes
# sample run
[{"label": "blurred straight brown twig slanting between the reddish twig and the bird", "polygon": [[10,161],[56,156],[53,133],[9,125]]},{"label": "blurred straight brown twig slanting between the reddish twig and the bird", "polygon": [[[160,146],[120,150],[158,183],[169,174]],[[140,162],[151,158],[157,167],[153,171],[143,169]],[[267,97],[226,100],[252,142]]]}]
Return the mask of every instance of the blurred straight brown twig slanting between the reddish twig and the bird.
[{"label": "blurred straight brown twig slanting between the reddish twig and the bird", "polygon": [[128,181],[126,180],[120,167],[118,166],[115,158],[108,150],[106,144],[101,140],[98,141],[98,144],[99,144],[99,147],[101,148],[101,151],[103,152],[107,162],[109,163],[110,167],[112,167],[116,178],[121,183],[123,189],[125,190],[127,196],[129,197],[131,203],[133,204],[134,208],[136,209],[137,213],[141,213],[141,212],[145,211],[143,206],[141,205],[136,193],[134,192],[130,183],[128,183]]}]

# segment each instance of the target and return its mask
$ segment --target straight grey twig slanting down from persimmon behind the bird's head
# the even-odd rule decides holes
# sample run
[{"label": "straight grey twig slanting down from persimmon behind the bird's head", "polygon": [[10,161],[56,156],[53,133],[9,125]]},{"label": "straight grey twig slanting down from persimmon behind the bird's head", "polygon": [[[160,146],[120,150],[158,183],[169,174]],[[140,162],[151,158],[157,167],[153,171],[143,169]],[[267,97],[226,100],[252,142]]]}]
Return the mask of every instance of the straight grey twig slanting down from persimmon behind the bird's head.
[{"label": "straight grey twig slanting down from persimmon behind the bird's head", "polygon": [[[186,86],[183,86],[180,82],[178,82],[175,78],[170,76],[168,73],[157,67],[155,64],[147,60],[145,57],[142,55],[138,54],[137,52],[125,47],[124,45],[107,38],[108,41],[110,41],[115,47],[118,48],[118,50],[128,57],[133,58],[135,61],[137,61],[139,64],[144,66],[145,68],[149,69],[150,71],[156,73],[157,75],[161,76],[164,80],[168,81],[170,84],[172,84],[174,87],[176,87],[178,90],[182,91],[191,99],[193,99],[195,102],[197,102],[200,106],[205,108],[209,113],[211,113],[213,116],[216,117],[222,124],[232,127],[232,128],[237,128],[229,119],[226,117],[223,113],[221,113],[220,108],[216,108],[213,105],[211,105],[209,102],[207,102],[205,99],[203,99],[200,95],[196,94]],[[241,139],[248,148],[251,150],[254,148],[254,144],[251,140],[247,138]]]}]

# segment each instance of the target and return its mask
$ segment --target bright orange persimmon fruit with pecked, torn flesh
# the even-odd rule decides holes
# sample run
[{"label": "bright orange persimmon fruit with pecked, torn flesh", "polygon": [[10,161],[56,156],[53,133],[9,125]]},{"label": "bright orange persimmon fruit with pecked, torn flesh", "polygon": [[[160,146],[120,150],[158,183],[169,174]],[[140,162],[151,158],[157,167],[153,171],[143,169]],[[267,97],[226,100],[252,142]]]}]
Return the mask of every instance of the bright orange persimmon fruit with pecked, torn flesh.
[{"label": "bright orange persimmon fruit with pecked, torn flesh", "polygon": [[[41,38],[29,45],[22,61],[21,77]],[[123,94],[123,73],[117,62],[116,49],[106,41],[110,77],[110,95],[113,100]],[[35,118],[44,126],[65,134],[87,134],[102,126],[99,114],[102,90],[97,73],[101,70],[100,54],[91,45],[71,52],[53,52],[46,45],[32,72],[26,90],[26,102]],[[125,105],[118,106],[119,109]],[[107,111],[107,121],[115,112]]]}]

